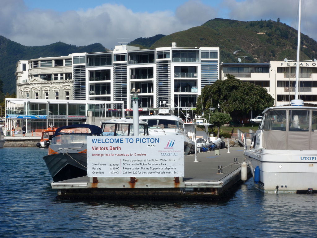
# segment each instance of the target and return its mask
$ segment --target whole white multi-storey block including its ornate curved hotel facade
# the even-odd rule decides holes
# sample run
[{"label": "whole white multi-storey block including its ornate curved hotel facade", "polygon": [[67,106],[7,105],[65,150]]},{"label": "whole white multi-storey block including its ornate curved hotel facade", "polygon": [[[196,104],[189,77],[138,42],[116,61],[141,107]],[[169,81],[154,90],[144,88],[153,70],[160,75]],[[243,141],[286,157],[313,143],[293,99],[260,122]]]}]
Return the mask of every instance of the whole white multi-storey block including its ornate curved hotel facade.
[{"label": "whole white multi-storey block including its ornate curved hotel facade", "polygon": [[217,47],[179,48],[173,43],[140,50],[120,45],[109,52],[19,61],[17,98],[123,101],[123,109],[131,109],[135,90],[140,111],[163,102],[172,108],[194,108],[201,89],[219,74]]}]

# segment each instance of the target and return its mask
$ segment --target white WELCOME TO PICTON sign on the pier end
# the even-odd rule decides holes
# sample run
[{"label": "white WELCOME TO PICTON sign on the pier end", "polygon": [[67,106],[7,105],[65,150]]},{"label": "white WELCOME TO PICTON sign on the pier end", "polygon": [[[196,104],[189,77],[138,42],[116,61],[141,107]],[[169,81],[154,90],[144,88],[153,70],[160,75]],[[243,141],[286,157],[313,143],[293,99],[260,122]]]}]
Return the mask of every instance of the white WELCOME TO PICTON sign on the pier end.
[{"label": "white WELCOME TO PICTON sign on the pier end", "polygon": [[87,136],[88,177],[183,177],[183,136]]}]

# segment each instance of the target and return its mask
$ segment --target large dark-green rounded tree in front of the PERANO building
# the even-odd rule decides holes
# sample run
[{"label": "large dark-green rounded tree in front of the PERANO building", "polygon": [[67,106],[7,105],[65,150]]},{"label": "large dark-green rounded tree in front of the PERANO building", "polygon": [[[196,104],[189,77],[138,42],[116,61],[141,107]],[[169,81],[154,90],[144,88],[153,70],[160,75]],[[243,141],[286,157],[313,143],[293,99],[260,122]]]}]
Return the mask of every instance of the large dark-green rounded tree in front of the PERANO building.
[{"label": "large dark-green rounded tree in front of the PERANO building", "polygon": [[243,82],[230,74],[226,76],[226,80],[218,80],[202,89],[197,100],[197,113],[216,108],[237,118],[249,114],[250,110],[254,115],[260,114],[265,108],[274,105],[274,98],[267,89]]}]

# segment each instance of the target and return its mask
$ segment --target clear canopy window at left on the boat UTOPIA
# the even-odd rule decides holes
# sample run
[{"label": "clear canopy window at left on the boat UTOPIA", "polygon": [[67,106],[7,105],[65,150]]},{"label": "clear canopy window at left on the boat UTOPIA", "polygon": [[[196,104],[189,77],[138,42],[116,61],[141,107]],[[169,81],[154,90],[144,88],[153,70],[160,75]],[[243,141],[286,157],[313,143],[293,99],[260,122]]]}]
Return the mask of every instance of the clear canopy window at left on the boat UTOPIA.
[{"label": "clear canopy window at left on the boat UTOPIA", "polygon": [[286,130],[286,110],[272,110],[265,115],[263,129]]}]

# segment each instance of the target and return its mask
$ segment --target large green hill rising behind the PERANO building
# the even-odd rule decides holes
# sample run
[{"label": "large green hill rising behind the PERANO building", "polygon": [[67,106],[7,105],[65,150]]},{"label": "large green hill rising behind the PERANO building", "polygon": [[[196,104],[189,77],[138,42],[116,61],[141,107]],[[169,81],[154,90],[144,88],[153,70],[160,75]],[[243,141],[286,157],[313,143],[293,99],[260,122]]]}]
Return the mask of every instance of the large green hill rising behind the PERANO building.
[{"label": "large green hill rising behind the PERANO building", "polygon": [[[264,63],[280,61],[284,58],[296,59],[297,30],[280,22],[242,22],[215,18],[201,26],[175,32],[156,41],[151,48],[178,47],[219,47],[220,61],[232,63],[238,56],[249,56],[243,62]],[[239,54],[232,54],[241,50]],[[301,34],[301,59],[317,57],[317,42]]]}]

